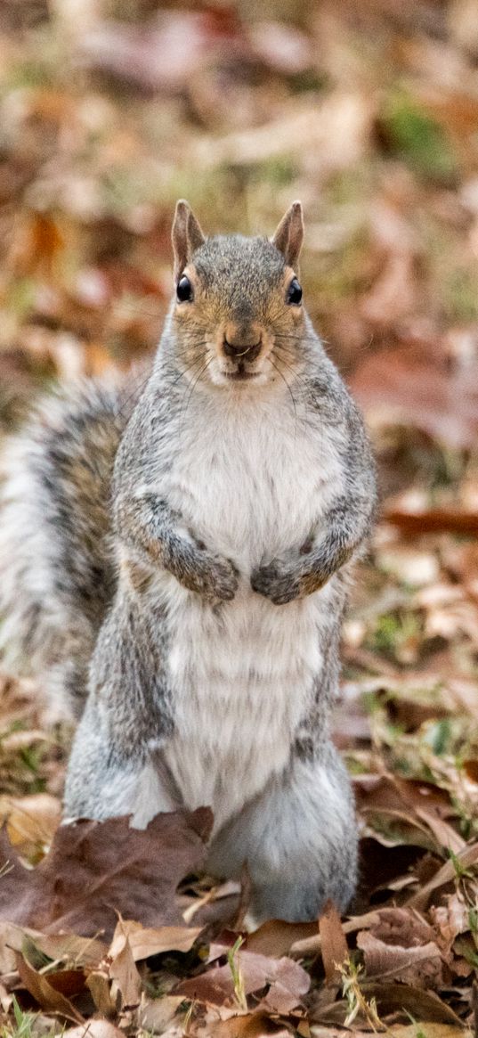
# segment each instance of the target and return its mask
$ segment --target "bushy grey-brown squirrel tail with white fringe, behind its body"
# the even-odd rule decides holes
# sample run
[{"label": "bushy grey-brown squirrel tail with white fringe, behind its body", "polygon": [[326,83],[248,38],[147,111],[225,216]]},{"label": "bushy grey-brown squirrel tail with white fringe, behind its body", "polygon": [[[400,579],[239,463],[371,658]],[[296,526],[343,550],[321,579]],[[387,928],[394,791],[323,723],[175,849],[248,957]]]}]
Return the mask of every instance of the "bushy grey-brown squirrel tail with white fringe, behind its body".
[{"label": "bushy grey-brown squirrel tail with white fringe, behind its body", "polygon": [[114,592],[111,479],[138,393],[130,379],[48,398],[2,450],[2,666],[37,679],[55,718],[82,711]]}]

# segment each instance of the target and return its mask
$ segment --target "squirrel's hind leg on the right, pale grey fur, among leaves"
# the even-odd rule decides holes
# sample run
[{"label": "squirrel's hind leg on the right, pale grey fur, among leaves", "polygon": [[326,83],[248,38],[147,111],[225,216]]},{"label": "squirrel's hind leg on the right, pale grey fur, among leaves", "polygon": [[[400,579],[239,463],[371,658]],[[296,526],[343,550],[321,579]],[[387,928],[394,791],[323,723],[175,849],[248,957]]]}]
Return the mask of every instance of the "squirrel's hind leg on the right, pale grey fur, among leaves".
[{"label": "squirrel's hind leg on the right, pale grey fur, among leaves", "polygon": [[208,868],[237,875],[247,861],[251,913],[304,922],[331,898],[344,910],[357,881],[357,825],[345,768],[331,744],[288,769],[218,832]]}]

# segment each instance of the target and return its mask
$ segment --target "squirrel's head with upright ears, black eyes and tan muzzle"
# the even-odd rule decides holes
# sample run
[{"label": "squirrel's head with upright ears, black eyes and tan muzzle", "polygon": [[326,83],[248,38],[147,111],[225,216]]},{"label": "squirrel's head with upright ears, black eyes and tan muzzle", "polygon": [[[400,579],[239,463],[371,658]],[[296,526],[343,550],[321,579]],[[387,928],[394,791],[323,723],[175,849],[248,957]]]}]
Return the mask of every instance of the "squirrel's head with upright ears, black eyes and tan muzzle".
[{"label": "squirrel's head with upright ears, black eyes and tan muzzle", "polygon": [[191,379],[260,385],[296,370],[304,334],[303,236],[299,201],[272,240],[205,238],[188,202],[177,202],[172,322],[176,361]]}]

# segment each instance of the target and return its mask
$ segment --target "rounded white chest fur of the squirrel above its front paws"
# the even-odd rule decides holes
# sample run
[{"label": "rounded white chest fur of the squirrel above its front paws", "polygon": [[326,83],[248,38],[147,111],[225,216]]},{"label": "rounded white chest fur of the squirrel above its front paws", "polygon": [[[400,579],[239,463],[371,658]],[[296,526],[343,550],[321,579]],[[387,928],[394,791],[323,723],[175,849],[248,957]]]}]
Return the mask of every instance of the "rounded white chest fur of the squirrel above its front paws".
[{"label": "rounded white chest fur of the squirrel above its front paws", "polygon": [[337,491],[340,465],[319,425],[298,424],[290,408],[203,410],[174,459],[168,500],[247,576],[301,547]]}]

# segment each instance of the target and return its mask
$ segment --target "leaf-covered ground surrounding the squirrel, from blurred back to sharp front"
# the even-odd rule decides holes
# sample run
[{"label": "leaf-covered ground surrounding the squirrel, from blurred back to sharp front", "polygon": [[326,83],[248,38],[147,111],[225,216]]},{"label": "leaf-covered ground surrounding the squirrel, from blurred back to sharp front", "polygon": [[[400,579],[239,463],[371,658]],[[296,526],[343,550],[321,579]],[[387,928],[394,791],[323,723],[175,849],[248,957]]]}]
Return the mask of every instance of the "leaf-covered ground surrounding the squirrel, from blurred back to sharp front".
[{"label": "leaf-covered ground surrounding the squirrel, from blurred back to sharp front", "polygon": [[477,1033],[476,0],[3,0],[0,433],[158,339],[169,226],[272,233],[363,405],[382,516],[343,637],[350,914],[250,932],[207,810],[59,828],[69,733],[1,678],[0,1033]]}]

